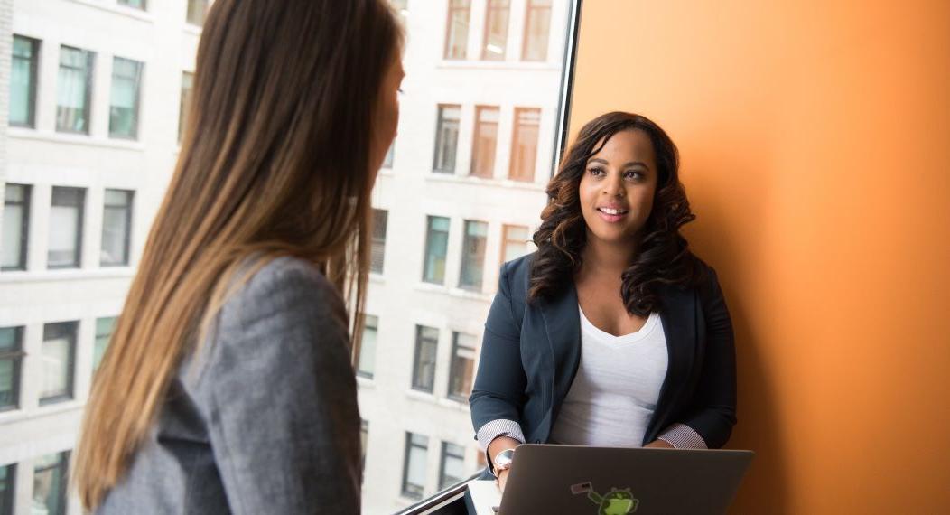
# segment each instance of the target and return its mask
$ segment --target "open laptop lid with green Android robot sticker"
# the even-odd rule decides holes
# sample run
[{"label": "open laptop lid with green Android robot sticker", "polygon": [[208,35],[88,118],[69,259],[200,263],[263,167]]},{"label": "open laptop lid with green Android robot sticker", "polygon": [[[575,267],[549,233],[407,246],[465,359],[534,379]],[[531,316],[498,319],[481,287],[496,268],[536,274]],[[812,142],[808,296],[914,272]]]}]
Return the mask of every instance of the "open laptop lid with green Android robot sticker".
[{"label": "open laptop lid with green Android robot sticker", "polygon": [[750,450],[523,445],[499,515],[725,513]]}]

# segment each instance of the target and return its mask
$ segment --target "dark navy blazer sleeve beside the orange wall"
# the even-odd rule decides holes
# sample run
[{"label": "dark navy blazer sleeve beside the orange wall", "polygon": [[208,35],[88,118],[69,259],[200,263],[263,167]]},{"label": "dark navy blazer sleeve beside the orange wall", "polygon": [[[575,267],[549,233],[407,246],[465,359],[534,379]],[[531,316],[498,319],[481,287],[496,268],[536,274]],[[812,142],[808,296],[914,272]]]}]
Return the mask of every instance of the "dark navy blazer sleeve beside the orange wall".
[{"label": "dark navy blazer sleeve beside the orange wall", "polygon": [[[712,267],[700,290],[706,348],[693,402],[678,422],[695,430],[708,448],[721,448],[735,426],[735,346],[726,299]],[[700,329],[701,330],[701,329]]]}]

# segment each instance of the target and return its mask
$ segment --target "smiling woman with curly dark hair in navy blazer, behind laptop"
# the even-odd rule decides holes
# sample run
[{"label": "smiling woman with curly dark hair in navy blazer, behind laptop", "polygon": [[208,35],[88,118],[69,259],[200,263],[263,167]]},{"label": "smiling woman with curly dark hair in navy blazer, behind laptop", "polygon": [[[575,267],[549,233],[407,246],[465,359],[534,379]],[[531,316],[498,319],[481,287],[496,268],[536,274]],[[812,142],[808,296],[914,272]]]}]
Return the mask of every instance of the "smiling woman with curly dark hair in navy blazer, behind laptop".
[{"label": "smiling woman with curly dark hair in navy blazer, behind laptop", "polygon": [[678,165],[673,141],[643,116],[584,125],[548,184],[538,251],[502,267],[469,399],[502,488],[524,442],[729,439],[731,320],[715,272],[679,234],[695,217]]}]

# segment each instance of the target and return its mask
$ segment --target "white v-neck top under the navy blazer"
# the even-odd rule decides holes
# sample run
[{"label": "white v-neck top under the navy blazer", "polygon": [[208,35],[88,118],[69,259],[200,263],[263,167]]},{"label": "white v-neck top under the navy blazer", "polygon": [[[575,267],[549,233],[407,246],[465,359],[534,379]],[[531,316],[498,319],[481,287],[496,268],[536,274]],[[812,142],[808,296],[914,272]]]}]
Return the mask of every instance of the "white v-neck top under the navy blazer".
[{"label": "white v-neck top under the navy blazer", "polygon": [[580,310],[580,365],[551,439],[561,444],[640,447],[666,377],[666,334],[651,313],[636,333],[601,331]]}]

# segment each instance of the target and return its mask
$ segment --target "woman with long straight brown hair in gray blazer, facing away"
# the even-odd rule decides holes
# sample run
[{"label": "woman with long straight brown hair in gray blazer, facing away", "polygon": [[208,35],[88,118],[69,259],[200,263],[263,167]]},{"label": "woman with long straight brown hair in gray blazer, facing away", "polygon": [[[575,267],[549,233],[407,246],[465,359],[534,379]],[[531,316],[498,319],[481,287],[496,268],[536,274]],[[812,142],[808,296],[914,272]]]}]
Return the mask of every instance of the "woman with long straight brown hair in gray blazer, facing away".
[{"label": "woman with long straight brown hair in gray blazer, facing away", "polygon": [[384,0],[215,2],[86,407],[86,509],[359,511],[350,328],[358,342],[401,48]]}]

